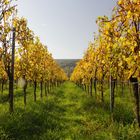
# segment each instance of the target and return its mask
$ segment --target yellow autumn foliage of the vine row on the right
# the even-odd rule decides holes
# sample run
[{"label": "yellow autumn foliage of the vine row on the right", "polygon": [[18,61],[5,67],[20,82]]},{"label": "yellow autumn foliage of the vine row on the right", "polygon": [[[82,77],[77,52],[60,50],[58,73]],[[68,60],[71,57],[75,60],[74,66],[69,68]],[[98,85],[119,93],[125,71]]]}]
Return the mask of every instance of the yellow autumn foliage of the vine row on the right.
[{"label": "yellow autumn foliage of the vine row on the right", "polygon": [[71,80],[89,85],[91,78],[109,80],[110,75],[121,81],[140,78],[139,21],[140,0],[118,0],[111,19],[100,16],[96,21],[99,35],[89,44]]}]

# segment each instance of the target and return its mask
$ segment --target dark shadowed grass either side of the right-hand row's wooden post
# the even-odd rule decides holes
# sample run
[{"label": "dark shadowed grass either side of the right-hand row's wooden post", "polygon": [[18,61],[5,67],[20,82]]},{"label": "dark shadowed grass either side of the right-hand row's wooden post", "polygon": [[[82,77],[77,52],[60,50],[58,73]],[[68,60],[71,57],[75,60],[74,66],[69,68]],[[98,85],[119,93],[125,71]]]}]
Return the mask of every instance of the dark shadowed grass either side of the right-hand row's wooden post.
[{"label": "dark shadowed grass either side of the right-hand row's wooden post", "polygon": [[[105,117],[105,115],[110,114],[110,103],[109,101],[105,101],[104,103],[102,103],[93,98],[84,99],[81,109],[91,114],[91,116],[96,113],[97,116],[99,117],[101,116]],[[115,103],[114,112],[113,112],[114,121],[127,125],[127,124],[132,124],[134,119],[135,119],[135,115],[131,107],[128,106],[126,107],[126,104],[122,104],[118,102]]]}]

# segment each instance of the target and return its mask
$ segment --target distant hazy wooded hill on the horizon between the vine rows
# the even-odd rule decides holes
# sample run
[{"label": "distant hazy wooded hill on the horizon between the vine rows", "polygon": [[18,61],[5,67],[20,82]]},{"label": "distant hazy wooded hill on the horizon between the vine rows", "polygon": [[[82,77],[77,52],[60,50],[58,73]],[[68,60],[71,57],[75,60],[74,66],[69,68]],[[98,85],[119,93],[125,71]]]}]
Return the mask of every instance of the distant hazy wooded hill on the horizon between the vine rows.
[{"label": "distant hazy wooded hill on the horizon between the vine rows", "polygon": [[65,70],[67,75],[70,77],[71,73],[73,72],[73,69],[76,66],[76,63],[80,59],[55,59],[55,60],[60,65],[60,67]]}]

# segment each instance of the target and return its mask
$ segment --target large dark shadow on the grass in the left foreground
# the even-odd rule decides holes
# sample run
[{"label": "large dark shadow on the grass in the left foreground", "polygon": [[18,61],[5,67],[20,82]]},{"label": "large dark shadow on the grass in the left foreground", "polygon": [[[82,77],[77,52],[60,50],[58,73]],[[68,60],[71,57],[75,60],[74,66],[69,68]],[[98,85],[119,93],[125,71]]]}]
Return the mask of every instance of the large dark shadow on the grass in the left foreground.
[{"label": "large dark shadow on the grass in the left foreground", "polygon": [[16,108],[14,114],[4,114],[0,117],[0,139],[60,139],[70,121],[63,118],[65,109],[59,105],[47,102],[37,102],[26,111]]}]

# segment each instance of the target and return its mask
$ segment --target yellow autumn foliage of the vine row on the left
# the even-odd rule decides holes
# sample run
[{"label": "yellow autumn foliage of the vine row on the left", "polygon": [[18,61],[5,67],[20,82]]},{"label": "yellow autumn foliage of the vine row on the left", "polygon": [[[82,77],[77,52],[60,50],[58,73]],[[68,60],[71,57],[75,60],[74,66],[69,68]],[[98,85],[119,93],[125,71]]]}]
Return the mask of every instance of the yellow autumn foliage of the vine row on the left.
[{"label": "yellow autumn foliage of the vine row on the left", "polygon": [[55,62],[46,46],[28,27],[27,20],[15,15],[16,9],[15,5],[12,5],[13,1],[2,0],[0,2],[0,79],[8,80],[11,66],[11,33],[14,27],[16,32],[15,80],[20,77],[38,82],[66,80],[65,72]]}]

